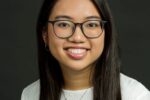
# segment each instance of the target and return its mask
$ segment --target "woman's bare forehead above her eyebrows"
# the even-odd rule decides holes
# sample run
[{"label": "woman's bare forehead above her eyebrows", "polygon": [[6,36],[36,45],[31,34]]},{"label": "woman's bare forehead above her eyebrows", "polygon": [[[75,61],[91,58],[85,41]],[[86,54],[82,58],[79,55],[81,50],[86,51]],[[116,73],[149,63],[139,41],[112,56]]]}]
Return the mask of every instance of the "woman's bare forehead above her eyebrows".
[{"label": "woman's bare forehead above her eyebrows", "polygon": [[88,16],[100,16],[91,0],[58,0],[50,15],[51,19],[56,16],[69,16],[73,19],[83,19]]}]

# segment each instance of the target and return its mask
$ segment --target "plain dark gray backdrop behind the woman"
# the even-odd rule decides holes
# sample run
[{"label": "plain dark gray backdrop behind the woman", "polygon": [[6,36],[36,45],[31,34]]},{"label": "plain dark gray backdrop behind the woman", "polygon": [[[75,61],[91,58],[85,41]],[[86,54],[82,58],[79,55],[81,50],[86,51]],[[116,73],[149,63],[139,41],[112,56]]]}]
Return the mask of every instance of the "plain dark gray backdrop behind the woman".
[{"label": "plain dark gray backdrop behind the woman", "polygon": [[[0,100],[20,100],[38,79],[35,25],[42,0],[0,1]],[[122,70],[150,89],[150,1],[109,0]]]}]

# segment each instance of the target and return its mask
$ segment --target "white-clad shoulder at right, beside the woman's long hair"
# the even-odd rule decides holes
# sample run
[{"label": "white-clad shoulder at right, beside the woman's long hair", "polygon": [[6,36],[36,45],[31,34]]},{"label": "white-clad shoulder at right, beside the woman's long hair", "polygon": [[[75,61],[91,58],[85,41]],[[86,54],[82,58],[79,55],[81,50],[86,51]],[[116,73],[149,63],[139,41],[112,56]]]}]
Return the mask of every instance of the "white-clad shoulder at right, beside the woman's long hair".
[{"label": "white-clad shoulder at right, beside the woman's long hair", "polygon": [[137,80],[120,74],[122,100],[150,100],[150,91]]}]

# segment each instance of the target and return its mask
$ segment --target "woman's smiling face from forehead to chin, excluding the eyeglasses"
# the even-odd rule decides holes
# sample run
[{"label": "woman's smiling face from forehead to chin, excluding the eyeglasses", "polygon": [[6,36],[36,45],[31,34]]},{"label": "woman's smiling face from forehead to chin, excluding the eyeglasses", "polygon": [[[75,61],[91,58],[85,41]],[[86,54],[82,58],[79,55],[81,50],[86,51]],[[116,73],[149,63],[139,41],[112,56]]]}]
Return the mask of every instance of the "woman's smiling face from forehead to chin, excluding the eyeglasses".
[{"label": "woman's smiling face from forehead to chin, excluding the eyeglasses", "polygon": [[[70,20],[82,23],[87,20],[97,20],[97,17],[101,18],[90,0],[58,0],[49,20]],[[104,36],[105,32],[103,31],[98,38],[88,39],[77,26],[70,38],[61,39],[56,37],[50,23],[47,32],[43,33],[44,42],[49,46],[49,51],[59,62],[61,68],[74,71],[94,65],[94,62],[102,54]]]}]

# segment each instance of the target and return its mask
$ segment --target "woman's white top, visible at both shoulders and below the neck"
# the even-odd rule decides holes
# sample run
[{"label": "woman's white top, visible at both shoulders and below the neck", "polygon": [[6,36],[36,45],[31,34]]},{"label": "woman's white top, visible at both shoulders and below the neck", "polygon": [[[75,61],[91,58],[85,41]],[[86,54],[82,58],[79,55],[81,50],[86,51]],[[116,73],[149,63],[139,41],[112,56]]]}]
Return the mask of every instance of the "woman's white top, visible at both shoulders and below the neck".
[{"label": "woman's white top, visible at both shoulders and below the neck", "polygon": [[[122,100],[150,100],[150,91],[140,82],[124,74],[120,74]],[[21,100],[39,100],[39,80],[27,86],[21,96]],[[83,90],[64,90],[61,100],[92,100],[93,87]],[[63,94],[64,93],[64,94]],[[65,95],[65,96],[64,96]]]}]

